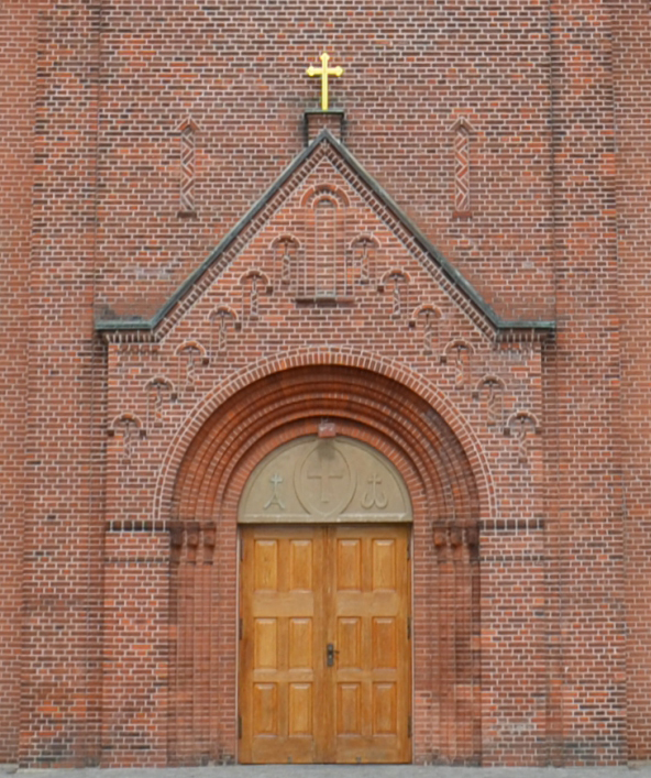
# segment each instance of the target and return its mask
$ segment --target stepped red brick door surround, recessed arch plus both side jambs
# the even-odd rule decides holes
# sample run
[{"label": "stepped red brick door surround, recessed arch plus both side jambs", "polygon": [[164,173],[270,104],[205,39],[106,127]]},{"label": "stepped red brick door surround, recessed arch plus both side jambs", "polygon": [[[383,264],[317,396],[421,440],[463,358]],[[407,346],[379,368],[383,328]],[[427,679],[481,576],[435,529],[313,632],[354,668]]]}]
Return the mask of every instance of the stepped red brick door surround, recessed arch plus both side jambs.
[{"label": "stepped red brick door surround, recessed arch plus both side jambs", "polygon": [[[404,371],[399,372],[406,377]],[[176,643],[173,640],[170,646],[170,741],[175,743],[170,760],[180,764],[205,758],[207,748],[212,758],[236,754],[238,502],[246,480],[265,456],[285,442],[316,434],[323,419],[334,424],[338,435],[366,442],[387,457],[401,473],[411,496],[415,759],[476,760],[481,748],[478,681],[474,702],[466,703],[461,714],[442,701],[452,699],[454,689],[478,679],[478,664],[471,648],[478,632],[477,560],[471,559],[467,548],[460,550],[454,540],[446,550],[441,549],[440,528],[452,528],[445,530],[450,538],[474,528],[476,537],[477,523],[486,516],[487,508],[482,492],[488,493],[485,483],[479,487],[482,479],[473,468],[473,461],[476,465],[479,460],[478,450],[468,457],[457,435],[422,394],[405,381],[398,382],[366,365],[323,359],[310,364],[301,355],[294,364],[284,360],[276,370],[268,364],[266,370],[253,371],[247,377],[250,381],[241,376],[233,382],[235,391],[218,390],[210,403],[198,407],[186,428],[184,439],[191,437],[191,441],[185,446],[185,456],[170,458],[170,462],[176,462],[176,479],[165,519],[177,528],[206,526],[216,533],[211,583],[207,584],[205,573],[200,579],[200,596],[210,600],[213,627],[210,639],[202,640],[199,648],[194,644],[194,627],[181,623],[187,603],[197,607],[199,590],[192,576],[198,574],[198,568],[177,567],[172,579]],[[198,418],[201,421],[195,424]],[[465,439],[470,440],[467,434]],[[439,528],[438,540],[434,527]],[[444,616],[442,600],[448,609]],[[200,607],[205,612],[207,606]],[[450,618],[452,611],[462,616],[453,627],[459,634],[450,640],[450,628],[441,620]],[[178,624],[175,618],[180,620]],[[195,621],[186,623],[194,625]],[[456,669],[457,648],[453,647],[460,640],[464,644],[461,650],[465,665],[473,665],[463,670],[467,676],[463,678]],[[175,669],[175,661],[181,661],[179,657],[185,657],[186,665],[191,657],[190,671],[187,666],[183,672]],[[210,668],[214,694],[205,693],[206,678],[201,672],[206,668]],[[219,700],[219,710],[211,708],[218,705],[211,699]],[[185,701],[183,710],[180,700]],[[191,720],[192,726],[186,720]],[[197,722],[201,722],[199,731]],[[455,734],[450,736],[450,732]],[[196,738],[197,746],[184,742],[184,737]]]}]

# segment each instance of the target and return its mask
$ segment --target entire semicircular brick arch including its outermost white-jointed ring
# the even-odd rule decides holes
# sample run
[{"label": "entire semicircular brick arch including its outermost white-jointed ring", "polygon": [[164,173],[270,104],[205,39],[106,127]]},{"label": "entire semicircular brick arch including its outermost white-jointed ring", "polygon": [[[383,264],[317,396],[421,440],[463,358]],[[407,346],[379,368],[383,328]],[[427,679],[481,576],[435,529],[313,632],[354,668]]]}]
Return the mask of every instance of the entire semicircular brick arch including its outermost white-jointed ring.
[{"label": "entire semicircular brick arch including its outermost white-jointed ring", "polygon": [[466,523],[494,514],[482,449],[445,395],[395,362],[321,350],[262,361],[197,404],[161,469],[155,517],[234,515],[255,464],[317,432],[323,418],[394,461],[421,516]]}]

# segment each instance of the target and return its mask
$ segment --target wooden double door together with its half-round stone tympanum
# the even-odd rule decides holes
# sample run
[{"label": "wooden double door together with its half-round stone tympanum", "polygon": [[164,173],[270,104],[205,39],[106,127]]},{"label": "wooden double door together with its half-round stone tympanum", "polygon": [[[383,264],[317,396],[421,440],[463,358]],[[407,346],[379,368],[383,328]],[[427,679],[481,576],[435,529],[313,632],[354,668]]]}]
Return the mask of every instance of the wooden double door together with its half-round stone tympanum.
[{"label": "wooden double door together with its half-round stone tympanum", "polygon": [[411,504],[333,431],[267,454],[240,502],[243,763],[411,760]]}]

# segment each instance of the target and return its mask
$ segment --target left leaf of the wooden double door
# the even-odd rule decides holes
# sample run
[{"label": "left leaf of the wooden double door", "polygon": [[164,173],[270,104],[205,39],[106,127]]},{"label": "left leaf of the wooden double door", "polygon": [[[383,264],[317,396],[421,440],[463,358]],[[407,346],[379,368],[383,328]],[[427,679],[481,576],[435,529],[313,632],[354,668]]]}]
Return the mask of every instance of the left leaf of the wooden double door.
[{"label": "left leaf of the wooden double door", "polygon": [[[318,528],[255,528],[242,536],[242,761],[313,761],[322,698],[322,537]],[[246,563],[247,562],[247,563]],[[317,656],[318,654],[318,656]]]}]

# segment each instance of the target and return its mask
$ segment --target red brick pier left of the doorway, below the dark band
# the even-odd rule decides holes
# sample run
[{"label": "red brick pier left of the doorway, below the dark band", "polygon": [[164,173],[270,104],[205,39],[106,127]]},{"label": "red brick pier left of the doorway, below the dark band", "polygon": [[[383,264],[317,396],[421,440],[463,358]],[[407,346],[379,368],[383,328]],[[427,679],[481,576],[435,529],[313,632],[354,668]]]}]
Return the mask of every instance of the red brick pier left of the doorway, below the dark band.
[{"label": "red brick pier left of the doorway, below the dark band", "polygon": [[167,764],[169,537],[108,532],[102,766]]}]

